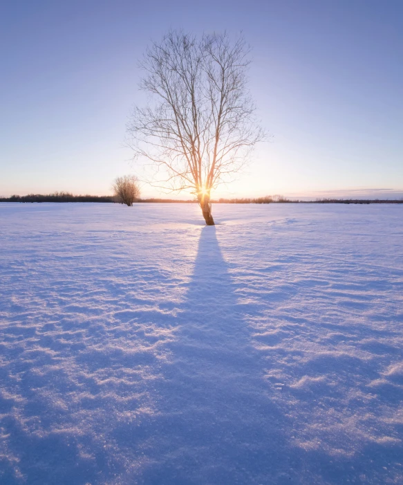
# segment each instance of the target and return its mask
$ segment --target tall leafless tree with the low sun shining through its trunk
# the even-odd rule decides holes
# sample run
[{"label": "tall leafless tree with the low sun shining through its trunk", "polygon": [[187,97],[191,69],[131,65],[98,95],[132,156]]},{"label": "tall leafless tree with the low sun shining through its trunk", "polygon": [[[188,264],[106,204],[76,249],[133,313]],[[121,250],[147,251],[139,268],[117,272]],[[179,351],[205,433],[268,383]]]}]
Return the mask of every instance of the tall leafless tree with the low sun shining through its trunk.
[{"label": "tall leafless tree with the low sun shining through its trunk", "polygon": [[243,38],[169,32],[153,43],[140,67],[148,107],[135,107],[128,125],[135,157],[156,167],[158,185],[190,190],[208,226],[210,194],[230,181],[263,138],[247,90],[250,49]]}]

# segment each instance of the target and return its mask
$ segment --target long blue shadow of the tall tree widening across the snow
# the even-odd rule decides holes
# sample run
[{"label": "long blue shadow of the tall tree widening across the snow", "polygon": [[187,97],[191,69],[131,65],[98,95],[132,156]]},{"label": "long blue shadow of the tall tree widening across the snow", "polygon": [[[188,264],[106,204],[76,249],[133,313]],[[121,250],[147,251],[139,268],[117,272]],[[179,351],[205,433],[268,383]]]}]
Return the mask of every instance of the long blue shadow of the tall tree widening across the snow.
[{"label": "long blue shadow of the tall tree widening across the snow", "polygon": [[156,388],[158,417],[141,432],[151,464],[138,483],[294,483],[280,473],[297,460],[283,453],[285,417],[237,308],[215,228],[205,227],[173,361]]}]

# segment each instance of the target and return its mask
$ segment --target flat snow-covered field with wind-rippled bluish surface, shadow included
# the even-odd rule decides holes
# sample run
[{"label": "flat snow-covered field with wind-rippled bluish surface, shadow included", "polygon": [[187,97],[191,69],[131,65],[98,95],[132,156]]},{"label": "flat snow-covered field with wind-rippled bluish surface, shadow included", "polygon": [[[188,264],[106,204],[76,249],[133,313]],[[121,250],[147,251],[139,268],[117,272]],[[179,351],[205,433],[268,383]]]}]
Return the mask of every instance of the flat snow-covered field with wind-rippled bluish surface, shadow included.
[{"label": "flat snow-covered field with wind-rippled bluish surface, shadow included", "polygon": [[0,205],[0,483],[403,484],[403,206]]}]

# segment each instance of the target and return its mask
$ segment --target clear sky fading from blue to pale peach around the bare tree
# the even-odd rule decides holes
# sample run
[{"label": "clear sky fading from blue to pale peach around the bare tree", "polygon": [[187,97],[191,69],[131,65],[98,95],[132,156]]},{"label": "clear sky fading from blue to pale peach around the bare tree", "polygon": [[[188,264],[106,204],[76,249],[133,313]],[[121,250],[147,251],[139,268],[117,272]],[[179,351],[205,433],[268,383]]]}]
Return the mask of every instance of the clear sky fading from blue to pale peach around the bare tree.
[{"label": "clear sky fading from blue to pale peach around the bare tree", "polygon": [[400,0],[3,1],[0,195],[109,194],[135,174],[138,60],[171,28],[242,31],[253,48],[270,138],[216,196],[403,196]]}]

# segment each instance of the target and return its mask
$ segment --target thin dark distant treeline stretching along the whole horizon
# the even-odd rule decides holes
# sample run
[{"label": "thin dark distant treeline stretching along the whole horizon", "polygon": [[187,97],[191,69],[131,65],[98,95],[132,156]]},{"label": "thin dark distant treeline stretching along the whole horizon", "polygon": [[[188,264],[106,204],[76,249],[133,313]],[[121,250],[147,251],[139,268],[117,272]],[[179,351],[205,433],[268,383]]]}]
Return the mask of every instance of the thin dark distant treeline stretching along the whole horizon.
[{"label": "thin dark distant treeline stretching along the whole horizon", "polygon": [[[0,197],[0,202],[109,202],[118,203],[115,196],[110,195],[73,195],[69,192],[54,192],[53,194],[28,194]],[[138,199],[140,203],[196,203],[194,200],[180,201],[178,199]],[[316,199],[315,201],[301,201],[287,199],[282,195],[268,195],[264,197],[246,199],[218,199],[212,203],[232,204],[268,204],[268,203],[343,203],[343,204],[380,204],[403,203],[403,199]]]}]

